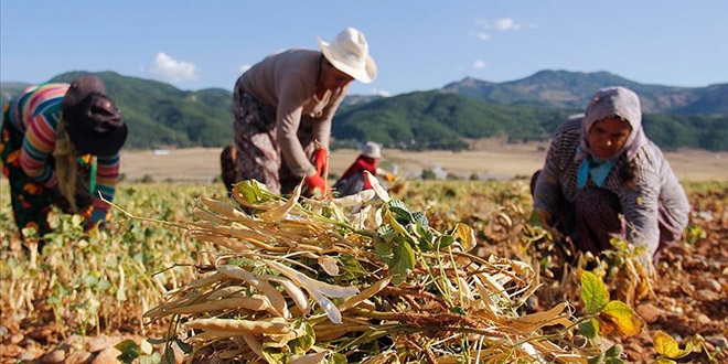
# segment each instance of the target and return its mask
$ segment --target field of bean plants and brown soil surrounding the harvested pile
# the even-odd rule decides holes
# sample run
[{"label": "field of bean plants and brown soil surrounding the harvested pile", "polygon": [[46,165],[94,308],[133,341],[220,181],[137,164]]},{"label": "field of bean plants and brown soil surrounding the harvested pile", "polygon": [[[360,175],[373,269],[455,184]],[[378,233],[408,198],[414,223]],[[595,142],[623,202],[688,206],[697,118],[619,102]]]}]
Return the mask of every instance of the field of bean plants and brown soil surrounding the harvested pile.
[{"label": "field of bean plants and brown soil surrounding the harvested pile", "polygon": [[[202,223],[201,218],[218,218],[201,214],[200,207],[208,207],[205,202],[210,201],[237,205],[225,195],[220,183],[141,183],[130,180],[118,188],[115,200],[118,208],[113,212],[109,231],[84,233],[77,216],[54,214],[57,233],[49,237],[50,243],[42,254],[26,254],[23,248],[12,222],[7,180],[0,180],[1,362],[101,363],[104,357],[124,354],[126,356],[122,358],[127,362],[136,357],[136,362],[157,363],[175,360],[174,353],[180,361],[182,352],[189,350],[184,344],[178,344],[174,351],[164,350],[161,339],[179,334],[174,326],[179,319],[159,313],[160,308],[179,297],[180,292],[189,292],[189,285],[201,277],[208,277],[217,264],[233,259],[232,251],[237,251],[234,246],[213,244],[205,240],[205,234],[200,233],[201,226],[210,228],[210,224]],[[400,217],[419,216],[413,217],[418,222],[425,216],[432,232],[445,237],[456,236],[456,240],[461,240],[463,246],[469,240],[465,236],[470,236],[463,232],[472,232],[470,259],[473,265],[481,265],[479,271],[482,274],[497,275],[491,269],[500,267],[503,271],[513,271],[514,277],[529,277],[526,282],[518,280],[518,285],[524,285],[522,288],[527,291],[520,296],[523,300],[499,303],[507,303],[514,318],[545,314],[564,307],[566,310],[561,315],[566,314],[574,322],[602,324],[597,328],[596,335],[582,331],[574,335],[577,328],[557,330],[536,325],[529,333],[540,338],[533,341],[536,349],[548,347],[536,345],[544,340],[544,343],[558,343],[559,347],[589,352],[593,356],[600,350],[614,350],[619,344],[623,347],[621,357],[624,362],[668,362],[671,358],[699,363],[728,361],[728,306],[725,303],[728,301],[728,251],[724,246],[728,240],[728,181],[684,182],[693,205],[692,224],[683,242],[670,248],[663,261],[655,267],[656,275],[646,280],[640,279],[630,269],[631,259],[625,249],[599,260],[582,257],[575,267],[566,266],[564,263],[574,257],[566,256],[548,232],[529,223],[527,182],[523,176],[488,181],[398,178],[388,182],[386,188],[389,196],[400,203],[388,205],[387,211],[398,212]],[[304,216],[321,222],[328,218],[324,215],[315,218],[311,216],[318,214]],[[373,232],[360,231],[360,234],[371,236]],[[32,251],[33,246],[30,247]],[[318,251],[315,247],[310,249]],[[420,249],[426,250],[421,246]],[[402,261],[387,261],[390,270],[402,267]],[[431,264],[425,258],[417,260],[416,269],[407,277],[422,275],[419,264],[424,261]],[[374,263],[371,265],[376,267]],[[592,275],[582,274],[584,269]],[[379,270],[381,267],[372,275],[378,275]],[[534,275],[528,276],[528,271]],[[593,277],[600,278],[597,283]],[[402,278],[399,283],[408,283],[409,278]],[[608,291],[606,301],[624,302],[636,314],[635,320],[641,322],[627,329],[639,330],[625,335],[624,328],[618,324],[610,332],[609,321],[600,321],[606,313],[595,311],[595,302],[584,299],[585,291],[599,292],[602,280]],[[200,281],[195,285],[206,287]],[[396,287],[385,291],[392,295]],[[450,302],[451,298],[443,296],[447,299],[442,300]],[[424,308],[420,298],[406,298],[406,304]],[[457,308],[464,308],[464,299],[460,300],[463,301]],[[395,311],[395,308],[390,309]],[[181,310],[184,311],[184,308]],[[362,320],[361,317],[353,317],[351,311],[362,312],[357,309],[341,314],[344,319]],[[437,318],[451,319],[453,312],[458,315],[463,313],[458,310],[445,312],[436,315],[436,321]],[[597,321],[579,321],[579,318],[589,314]],[[200,318],[188,317],[190,321]],[[542,318],[546,320],[545,315]],[[508,336],[513,338],[522,335],[521,332],[508,331],[515,330],[514,325],[492,322],[499,324],[499,332],[508,332]],[[582,325],[579,325],[581,329]],[[449,330],[452,331],[452,328]],[[349,333],[350,336],[353,334]],[[424,342],[424,336],[417,331],[411,338],[399,340],[419,347],[416,345]],[[376,350],[403,350],[395,344],[394,336],[385,339],[376,340]],[[437,342],[448,341],[438,339]],[[517,354],[524,342],[513,343],[510,355]],[[392,347],[385,347],[385,343]],[[442,352],[450,350],[436,343],[431,345]],[[462,343],[454,346],[460,345]],[[362,344],[361,347],[368,346]],[[205,350],[231,353],[229,343],[225,341],[210,344]],[[442,352],[435,353],[439,355]],[[356,356],[360,358],[366,356],[358,355],[363,355]],[[493,357],[510,357],[506,362],[512,362],[518,356]],[[520,361],[528,362],[533,357],[537,356],[521,356]],[[431,358],[419,357],[420,361]]]}]

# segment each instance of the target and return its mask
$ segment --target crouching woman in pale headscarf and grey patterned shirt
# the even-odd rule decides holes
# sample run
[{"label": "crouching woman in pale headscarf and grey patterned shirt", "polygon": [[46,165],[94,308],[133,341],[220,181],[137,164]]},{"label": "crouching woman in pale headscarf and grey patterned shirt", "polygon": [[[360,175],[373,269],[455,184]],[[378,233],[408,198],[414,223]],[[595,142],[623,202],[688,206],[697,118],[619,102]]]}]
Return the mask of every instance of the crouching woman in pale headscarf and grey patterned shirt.
[{"label": "crouching woman in pale headscarf and grey patterned shirt", "polygon": [[656,263],[681,239],[690,210],[662,151],[644,133],[638,95],[624,87],[600,89],[586,115],[559,126],[532,193],[534,217],[577,249],[598,255],[619,237],[644,246],[643,264]]}]

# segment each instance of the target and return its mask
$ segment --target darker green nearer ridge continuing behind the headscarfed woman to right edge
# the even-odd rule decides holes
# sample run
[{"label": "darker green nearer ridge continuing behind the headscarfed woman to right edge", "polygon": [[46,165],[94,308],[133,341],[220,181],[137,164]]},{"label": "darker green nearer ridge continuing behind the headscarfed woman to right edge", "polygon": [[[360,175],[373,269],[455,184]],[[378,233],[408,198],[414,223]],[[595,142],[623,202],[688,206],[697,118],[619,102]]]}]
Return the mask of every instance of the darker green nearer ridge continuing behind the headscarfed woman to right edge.
[{"label": "darker green nearer ridge continuing behind the headscarfed woman to right edge", "polygon": [[[557,126],[579,110],[496,105],[440,90],[410,93],[344,108],[334,117],[333,136],[343,146],[373,140],[410,150],[462,150],[468,139],[548,140]],[[645,133],[664,150],[728,150],[728,117],[644,114]]]}]

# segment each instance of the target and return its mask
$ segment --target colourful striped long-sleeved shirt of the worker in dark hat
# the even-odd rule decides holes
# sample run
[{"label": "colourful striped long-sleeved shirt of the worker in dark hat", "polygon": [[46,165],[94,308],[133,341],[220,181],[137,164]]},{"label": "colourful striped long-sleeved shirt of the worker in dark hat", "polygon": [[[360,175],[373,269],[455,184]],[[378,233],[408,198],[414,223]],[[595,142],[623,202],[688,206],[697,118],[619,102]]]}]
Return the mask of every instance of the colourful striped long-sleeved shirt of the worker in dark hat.
[{"label": "colourful striped long-sleeved shirt of the worker in dark hat", "polygon": [[[26,175],[53,189],[58,184],[55,168],[50,158],[55,149],[57,126],[61,119],[63,97],[68,84],[30,86],[10,101],[9,117],[12,126],[23,133],[20,165]],[[96,190],[93,191],[94,211],[108,211],[114,200],[119,176],[119,154],[97,158]]]}]

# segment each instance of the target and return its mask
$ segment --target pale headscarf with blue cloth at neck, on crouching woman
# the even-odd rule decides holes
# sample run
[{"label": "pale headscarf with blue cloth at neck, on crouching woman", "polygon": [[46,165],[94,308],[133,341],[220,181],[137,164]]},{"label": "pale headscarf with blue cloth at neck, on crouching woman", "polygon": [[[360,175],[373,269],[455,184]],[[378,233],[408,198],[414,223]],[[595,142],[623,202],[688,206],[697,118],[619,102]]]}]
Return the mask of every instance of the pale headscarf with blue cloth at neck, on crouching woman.
[{"label": "pale headscarf with blue cloth at neck, on crouching woman", "polygon": [[[589,146],[589,129],[599,120],[619,117],[629,122],[632,128],[622,149],[610,160],[598,160]],[[642,109],[638,95],[627,87],[606,87],[598,90],[587,107],[581,122],[581,140],[577,147],[576,161],[581,162],[577,172],[577,185],[584,188],[591,175],[598,186],[603,186],[609,172],[617,160],[624,154],[631,161],[647,141],[642,129]]]}]

